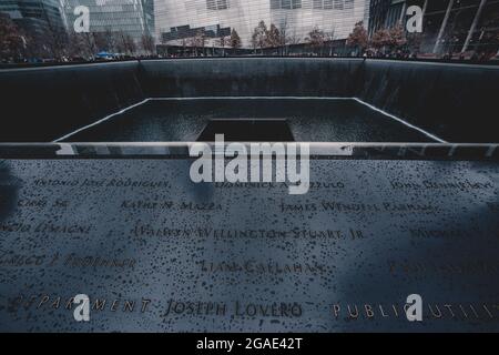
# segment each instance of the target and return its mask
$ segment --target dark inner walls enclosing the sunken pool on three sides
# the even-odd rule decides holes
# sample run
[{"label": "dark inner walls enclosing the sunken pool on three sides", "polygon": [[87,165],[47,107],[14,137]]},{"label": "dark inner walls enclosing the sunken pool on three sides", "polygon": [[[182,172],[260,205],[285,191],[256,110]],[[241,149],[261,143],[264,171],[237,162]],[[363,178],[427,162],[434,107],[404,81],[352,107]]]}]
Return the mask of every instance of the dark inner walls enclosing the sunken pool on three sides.
[{"label": "dark inner walls enclosing the sunken pool on three sides", "polygon": [[498,93],[499,67],[369,59],[181,59],[0,70],[0,140],[52,141],[146,98],[276,95],[355,97],[449,142],[498,142]]}]

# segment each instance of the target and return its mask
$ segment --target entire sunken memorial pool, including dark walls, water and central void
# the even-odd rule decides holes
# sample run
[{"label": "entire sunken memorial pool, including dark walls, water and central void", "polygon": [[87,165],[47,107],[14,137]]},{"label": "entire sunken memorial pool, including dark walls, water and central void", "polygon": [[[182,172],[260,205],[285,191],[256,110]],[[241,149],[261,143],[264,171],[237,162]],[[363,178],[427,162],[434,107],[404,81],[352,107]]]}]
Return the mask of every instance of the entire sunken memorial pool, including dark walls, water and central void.
[{"label": "entire sunken memorial pool, including dark walls, water and central void", "polygon": [[217,58],[0,70],[2,142],[472,142],[499,68]]}]

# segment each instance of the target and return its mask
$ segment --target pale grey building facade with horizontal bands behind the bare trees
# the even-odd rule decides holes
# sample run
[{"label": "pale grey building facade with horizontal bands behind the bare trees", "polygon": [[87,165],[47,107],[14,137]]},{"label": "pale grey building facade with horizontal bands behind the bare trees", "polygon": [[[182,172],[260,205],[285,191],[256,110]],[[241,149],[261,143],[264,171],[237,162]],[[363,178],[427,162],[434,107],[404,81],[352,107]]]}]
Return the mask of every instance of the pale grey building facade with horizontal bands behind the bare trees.
[{"label": "pale grey building facade with horizontal bands behind the bare trees", "polygon": [[303,43],[317,28],[329,39],[346,39],[358,21],[367,26],[367,0],[155,0],[156,39],[181,44],[200,31],[207,45],[236,30],[252,47],[255,27],[264,21],[286,33],[287,42]]}]

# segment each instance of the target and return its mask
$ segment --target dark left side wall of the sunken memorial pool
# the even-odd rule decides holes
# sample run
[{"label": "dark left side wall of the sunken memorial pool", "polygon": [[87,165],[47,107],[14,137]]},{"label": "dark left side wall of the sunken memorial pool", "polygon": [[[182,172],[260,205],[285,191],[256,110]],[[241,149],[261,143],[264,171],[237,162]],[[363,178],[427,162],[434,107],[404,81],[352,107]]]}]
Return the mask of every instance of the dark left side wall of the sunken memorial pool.
[{"label": "dark left side wall of the sunken memorial pool", "polygon": [[0,70],[3,142],[47,142],[145,99],[138,63]]}]

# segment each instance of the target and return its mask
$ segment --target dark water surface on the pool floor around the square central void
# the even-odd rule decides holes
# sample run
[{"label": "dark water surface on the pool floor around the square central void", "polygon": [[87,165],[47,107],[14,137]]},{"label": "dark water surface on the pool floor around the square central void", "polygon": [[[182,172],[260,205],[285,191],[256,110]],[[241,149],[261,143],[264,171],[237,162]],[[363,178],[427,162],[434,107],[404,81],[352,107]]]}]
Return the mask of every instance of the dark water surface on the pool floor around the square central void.
[{"label": "dark water surface on the pool floor around the square central void", "polygon": [[[208,126],[221,120],[223,124]],[[212,134],[201,134],[207,131]],[[192,142],[212,141],[213,133],[224,133],[227,141],[439,142],[430,132],[350,98],[147,99],[57,141]]]}]

